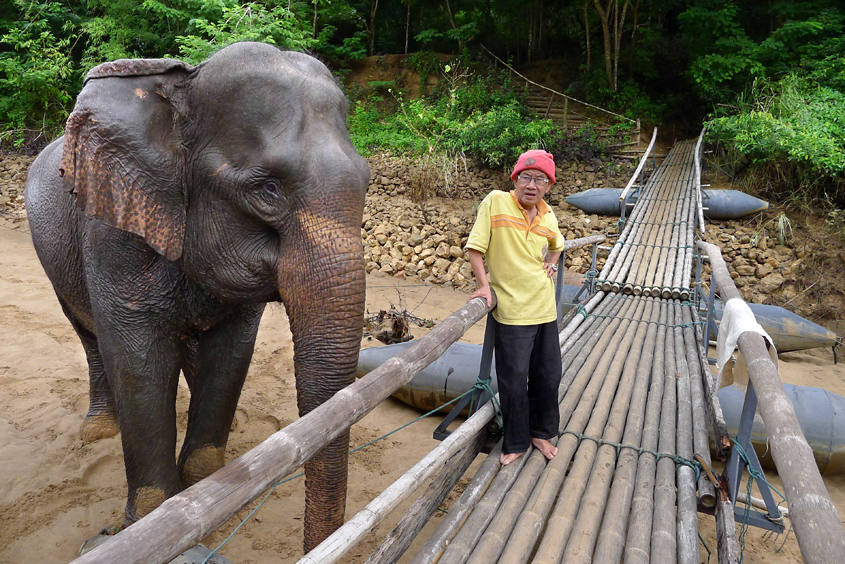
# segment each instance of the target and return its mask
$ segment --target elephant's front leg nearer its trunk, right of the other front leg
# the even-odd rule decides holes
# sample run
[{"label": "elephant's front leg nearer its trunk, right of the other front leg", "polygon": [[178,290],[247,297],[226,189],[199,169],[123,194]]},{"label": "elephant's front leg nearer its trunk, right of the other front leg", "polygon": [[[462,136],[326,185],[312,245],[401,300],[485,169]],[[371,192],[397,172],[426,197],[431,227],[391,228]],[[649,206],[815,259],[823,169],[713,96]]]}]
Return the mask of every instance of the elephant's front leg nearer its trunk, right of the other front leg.
[{"label": "elephant's front leg nearer its trunk, right of the other front leg", "polygon": [[264,305],[237,314],[188,342],[182,365],[191,388],[188,430],[177,469],[187,488],[223,467],[226,442],[246,378]]}]

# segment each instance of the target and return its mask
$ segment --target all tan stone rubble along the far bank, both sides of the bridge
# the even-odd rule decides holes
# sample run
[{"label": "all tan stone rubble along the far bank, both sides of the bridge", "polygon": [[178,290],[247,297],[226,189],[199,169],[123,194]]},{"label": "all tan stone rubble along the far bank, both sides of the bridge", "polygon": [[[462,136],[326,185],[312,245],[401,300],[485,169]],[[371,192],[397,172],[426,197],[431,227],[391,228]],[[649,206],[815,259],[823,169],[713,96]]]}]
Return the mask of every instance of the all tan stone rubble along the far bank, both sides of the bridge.
[{"label": "all tan stone rubble along the far bank, both sides of the bridge", "polygon": [[[0,216],[11,219],[15,226],[25,217],[23,193],[33,160],[29,156],[0,154]],[[463,247],[481,199],[492,189],[513,187],[507,173],[473,163],[460,164],[448,188],[451,196],[444,195],[444,186],[435,186],[435,194],[439,195],[421,206],[411,202],[408,194],[416,170],[409,159],[380,155],[368,161],[372,180],[361,228],[367,272],[473,290],[472,269]],[[566,204],[564,198],[587,188],[624,186],[631,168],[602,169],[586,163],[558,165],[557,182],[546,201],[555,211],[566,239],[607,233],[611,237],[607,245],[612,244],[612,236],[618,233],[617,218],[587,215]],[[795,298],[803,289],[799,280],[809,268],[805,259],[810,251],[781,246],[770,230],[760,230],[755,225],[746,219],[708,224],[705,238],[722,248],[731,276],[747,301],[772,303],[768,298],[775,291],[780,302]],[[567,268],[586,273],[591,269],[591,253],[590,247],[568,252]],[[601,264],[601,255],[599,260]],[[708,267],[704,278],[709,280]]]}]

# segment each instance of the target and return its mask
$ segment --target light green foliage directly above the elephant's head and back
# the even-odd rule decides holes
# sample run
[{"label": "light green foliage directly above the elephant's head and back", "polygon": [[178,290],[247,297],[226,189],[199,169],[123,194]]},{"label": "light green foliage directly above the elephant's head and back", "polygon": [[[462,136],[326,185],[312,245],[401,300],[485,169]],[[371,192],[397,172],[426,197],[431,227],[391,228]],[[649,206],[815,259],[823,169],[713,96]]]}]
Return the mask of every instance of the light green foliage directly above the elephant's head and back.
[{"label": "light green foliage directly above the elephant's head and back", "polygon": [[[151,0],[147,0],[148,2]],[[304,29],[291,10],[284,6],[239,4],[219,0],[218,19],[198,17],[190,21],[186,35],[177,36],[181,58],[199,63],[226,45],[238,41],[272,43],[284,49],[304,51],[317,45],[309,29]]]}]

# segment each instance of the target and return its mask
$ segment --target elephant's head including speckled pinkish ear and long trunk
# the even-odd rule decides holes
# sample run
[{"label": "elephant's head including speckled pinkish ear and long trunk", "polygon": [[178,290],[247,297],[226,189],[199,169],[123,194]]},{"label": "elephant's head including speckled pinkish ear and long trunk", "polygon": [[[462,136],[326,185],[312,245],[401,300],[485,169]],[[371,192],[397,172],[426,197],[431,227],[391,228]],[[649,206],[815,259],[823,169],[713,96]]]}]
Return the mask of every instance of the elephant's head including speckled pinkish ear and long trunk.
[{"label": "elephant's head including speckled pinkish ear and long trunk", "polygon": [[[321,63],[238,43],[196,67],[101,65],[68,120],[59,173],[87,218],[142,238],[220,303],[282,301],[301,415],[353,381],[369,169]],[[348,442],[306,466],[307,549],[343,522]],[[195,478],[222,464],[219,445],[212,458]]]}]

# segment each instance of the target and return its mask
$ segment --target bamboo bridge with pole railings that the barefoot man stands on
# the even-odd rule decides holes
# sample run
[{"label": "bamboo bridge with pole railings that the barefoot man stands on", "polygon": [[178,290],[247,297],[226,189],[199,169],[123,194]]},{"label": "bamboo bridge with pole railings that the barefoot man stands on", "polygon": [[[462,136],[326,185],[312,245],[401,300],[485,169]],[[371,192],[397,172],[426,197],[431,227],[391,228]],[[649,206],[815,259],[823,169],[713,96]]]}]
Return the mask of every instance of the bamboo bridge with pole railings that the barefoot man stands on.
[{"label": "bamboo bridge with pole railings that the barefoot man stands on", "polygon": [[[557,456],[549,461],[532,449],[502,467],[500,445],[494,447],[422,550],[406,554],[489,440],[495,409],[488,402],[301,564],[338,561],[420,490],[367,563],[409,557],[413,564],[697,563],[699,512],[716,516],[719,562],[740,561],[735,502],[743,468],[755,458],[738,457],[747,437],[728,437],[721,417],[707,358],[709,330],[697,306],[705,299],[695,283],[704,260],[721,299],[741,298],[718,247],[697,240],[704,227],[700,144],[700,137],[676,144],[639,186],[636,205],[590,281],[592,293],[559,321]],[[567,241],[566,247],[594,241]],[[483,300],[472,300],[402,354],[75,562],[174,558],[359,421],[487,313]],[[745,415],[753,417],[758,407],[769,430],[802,557],[845,562],[839,513],[765,341],[745,331],[738,345],[751,382]],[[711,440],[728,458],[722,476],[711,469]],[[777,508],[766,507],[772,524],[752,524],[774,528]]]}]

